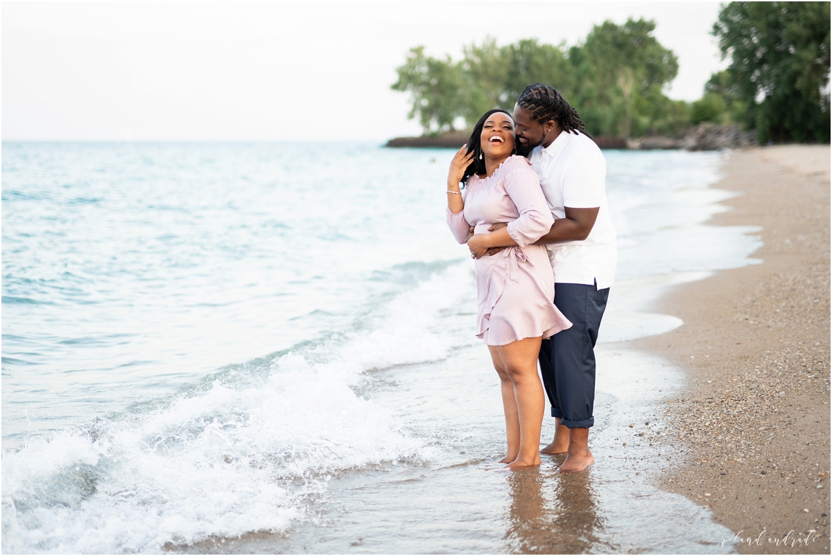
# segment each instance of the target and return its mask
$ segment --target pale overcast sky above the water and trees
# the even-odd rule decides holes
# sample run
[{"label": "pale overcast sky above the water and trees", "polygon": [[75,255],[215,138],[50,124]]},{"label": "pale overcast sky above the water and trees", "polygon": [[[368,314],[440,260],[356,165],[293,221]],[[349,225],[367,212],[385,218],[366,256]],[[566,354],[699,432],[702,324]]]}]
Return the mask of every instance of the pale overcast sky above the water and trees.
[{"label": "pale overcast sky above the water and trees", "polygon": [[[718,2],[3,2],[3,140],[386,140],[418,135],[391,91],[410,47],[491,36],[576,44],[656,21],[668,94],[726,66]],[[552,84],[557,86],[557,84]]]}]

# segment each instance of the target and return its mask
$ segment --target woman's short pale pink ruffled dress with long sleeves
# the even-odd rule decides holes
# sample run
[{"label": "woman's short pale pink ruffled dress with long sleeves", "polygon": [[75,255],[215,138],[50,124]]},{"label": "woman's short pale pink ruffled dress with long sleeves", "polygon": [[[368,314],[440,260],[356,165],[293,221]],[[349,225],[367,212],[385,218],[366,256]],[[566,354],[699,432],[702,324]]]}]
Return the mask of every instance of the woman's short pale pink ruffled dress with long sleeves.
[{"label": "woman's short pale pink ruffled dress with long sleeves", "polygon": [[488,234],[492,224],[508,224],[517,247],[483,256],[477,268],[477,337],[489,346],[503,346],[527,337],[550,337],[572,322],[552,300],[555,277],[546,248],[535,245],[552,228],[552,213],[540,189],[532,163],[522,156],[505,160],[491,177],[468,178],[463,189],[465,207],[448,209],[448,226],[460,244],[468,228]]}]

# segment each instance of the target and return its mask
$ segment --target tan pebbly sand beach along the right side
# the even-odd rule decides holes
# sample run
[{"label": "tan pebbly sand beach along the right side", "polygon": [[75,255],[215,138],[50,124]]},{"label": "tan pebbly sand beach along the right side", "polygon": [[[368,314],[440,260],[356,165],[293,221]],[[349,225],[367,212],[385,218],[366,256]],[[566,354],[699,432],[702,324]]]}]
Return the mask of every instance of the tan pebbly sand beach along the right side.
[{"label": "tan pebbly sand beach along the right side", "polygon": [[710,224],[760,226],[762,263],[675,288],[657,309],[685,324],[631,342],[689,376],[665,412],[691,457],[657,482],[741,553],[830,554],[830,147],[735,151],[724,171],[741,195]]}]

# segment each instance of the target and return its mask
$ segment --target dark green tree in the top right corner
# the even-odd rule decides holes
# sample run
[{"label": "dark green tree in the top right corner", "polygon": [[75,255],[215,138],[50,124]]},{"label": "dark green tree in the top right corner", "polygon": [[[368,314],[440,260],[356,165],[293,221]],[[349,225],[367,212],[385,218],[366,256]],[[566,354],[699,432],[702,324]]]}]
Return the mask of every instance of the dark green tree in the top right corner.
[{"label": "dark green tree in the top right corner", "polygon": [[713,34],[760,141],[830,140],[829,2],[730,2]]}]

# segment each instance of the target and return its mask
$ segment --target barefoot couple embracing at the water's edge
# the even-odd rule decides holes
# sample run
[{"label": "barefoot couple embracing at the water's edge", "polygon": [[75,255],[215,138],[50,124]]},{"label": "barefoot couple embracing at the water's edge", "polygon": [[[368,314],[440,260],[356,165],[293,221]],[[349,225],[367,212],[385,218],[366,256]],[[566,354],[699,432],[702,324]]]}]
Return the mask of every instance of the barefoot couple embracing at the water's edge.
[{"label": "barefoot couple embracing at the water's edge", "polygon": [[[562,472],[594,462],[593,349],[617,263],[606,175],[577,111],[540,83],[513,115],[486,112],[448,170],[448,226],[475,260],[477,336],[500,377],[510,469],[541,453],[566,454]],[[544,387],[557,427],[540,450]]]}]

